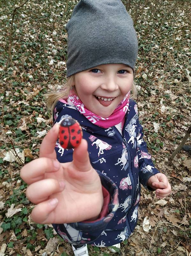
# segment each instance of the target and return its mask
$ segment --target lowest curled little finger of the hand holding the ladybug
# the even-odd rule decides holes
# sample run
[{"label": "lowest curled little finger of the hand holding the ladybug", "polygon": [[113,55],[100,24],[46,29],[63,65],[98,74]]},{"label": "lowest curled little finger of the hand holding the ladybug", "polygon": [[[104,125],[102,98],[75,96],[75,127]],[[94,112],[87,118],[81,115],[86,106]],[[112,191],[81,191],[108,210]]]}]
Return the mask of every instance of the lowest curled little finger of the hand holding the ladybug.
[{"label": "lowest curled little finger of the hand holding the ladybug", "polygon": [[58,204],[58,199],[53,198],[37,204],[31,212],[31,217],[34,222],[40,224],[55,223],[54,210]]}]

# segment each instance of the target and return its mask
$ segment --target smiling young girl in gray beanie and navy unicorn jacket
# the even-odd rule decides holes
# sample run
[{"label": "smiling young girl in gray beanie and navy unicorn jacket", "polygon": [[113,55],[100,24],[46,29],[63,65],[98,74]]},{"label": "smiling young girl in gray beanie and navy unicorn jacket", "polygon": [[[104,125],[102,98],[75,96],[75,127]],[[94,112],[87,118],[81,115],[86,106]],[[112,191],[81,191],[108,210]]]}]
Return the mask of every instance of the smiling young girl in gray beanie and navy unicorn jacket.
[{"label": "smiling young girl in gray beanie and navy unicorn jacket", "polygon": [[[33,220],[56,223],[74,254],[87,256],[87,244],[120,248],[128,239],[138,220],[140,183],[158,198],[168,196],[171,186],[151,161],[137,105],[129,98],[138,44],[124,5],[81,0],[66,28],[68,81],[48,97],[55,125],[42,141],[40,158],[26,164],[21,177],[36,204]],[[74,150],[57,140],[57,123],[67,117],[83,129]]]}]

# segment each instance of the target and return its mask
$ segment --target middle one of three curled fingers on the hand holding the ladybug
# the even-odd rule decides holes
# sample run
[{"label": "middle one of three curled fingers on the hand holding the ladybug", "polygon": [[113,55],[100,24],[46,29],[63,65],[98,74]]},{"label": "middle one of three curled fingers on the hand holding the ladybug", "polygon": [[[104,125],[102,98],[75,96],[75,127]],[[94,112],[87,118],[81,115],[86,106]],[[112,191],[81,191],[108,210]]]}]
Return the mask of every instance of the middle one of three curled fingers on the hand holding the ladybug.
[{"label": "middle one of three curled fingers on the hand holding the ladybug", "polygon": [[65,187],[64,181],[57,181],[55,179],[40,180],[31,184],[26,190],[27,198],[33,204],[39,204],[48,200],[48,197],[62,192]]}]

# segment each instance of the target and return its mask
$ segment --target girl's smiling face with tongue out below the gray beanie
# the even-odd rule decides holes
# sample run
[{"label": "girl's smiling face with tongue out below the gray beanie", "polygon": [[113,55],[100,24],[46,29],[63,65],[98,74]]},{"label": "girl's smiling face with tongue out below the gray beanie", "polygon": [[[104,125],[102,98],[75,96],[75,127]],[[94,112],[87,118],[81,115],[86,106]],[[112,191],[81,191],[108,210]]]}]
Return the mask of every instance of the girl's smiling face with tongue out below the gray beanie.
[{"label": "girl's smiling face with tongue out below the gray beanie", "polygon": [[77,94],[92,113],[110,116],[133,84],[133,70],[124,64],[103,64],[74,75]]}]

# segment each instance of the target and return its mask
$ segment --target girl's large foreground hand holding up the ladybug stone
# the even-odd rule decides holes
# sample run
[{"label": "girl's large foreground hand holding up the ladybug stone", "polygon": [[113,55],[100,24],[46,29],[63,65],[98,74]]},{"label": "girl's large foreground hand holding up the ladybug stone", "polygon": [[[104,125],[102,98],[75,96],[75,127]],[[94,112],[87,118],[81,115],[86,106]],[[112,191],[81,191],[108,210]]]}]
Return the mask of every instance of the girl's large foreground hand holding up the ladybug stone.
[{"label": "girl's large foreground hand holding up the ladybug stone", "polygon": [[37,223],[71,223],[98,217],[103,206],[98,173],[90,164],[87,141],[82,139],[73,151],[73,161],[56,160],[55,143],[59,124],[55,124],[40,146],[40,158],[26,164],[20,172],[29,184],[27,198],[36,206],[31,216]]}]

